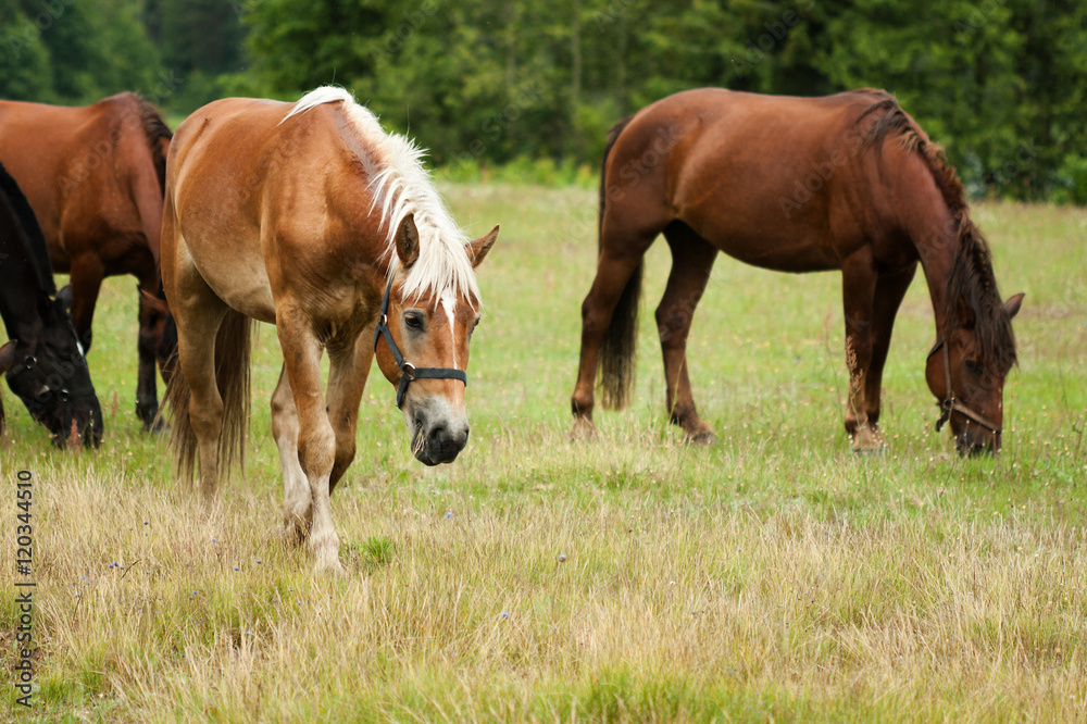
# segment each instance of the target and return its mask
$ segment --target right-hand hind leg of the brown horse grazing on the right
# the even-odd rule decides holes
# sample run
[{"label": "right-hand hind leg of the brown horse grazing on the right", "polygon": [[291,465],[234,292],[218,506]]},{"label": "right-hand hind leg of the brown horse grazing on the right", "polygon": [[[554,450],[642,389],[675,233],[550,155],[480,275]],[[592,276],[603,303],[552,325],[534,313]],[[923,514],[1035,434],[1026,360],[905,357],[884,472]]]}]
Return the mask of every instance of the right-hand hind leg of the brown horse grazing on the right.
[{"label": "right-hand hind leg of the brown horse grazing on the right", "polygon": [[687,374],[687,336],[717,250],[682,222],[670,224],[664,238],[672,249],[672,272],[657,308],[657,328],[664,355],[669,415],[687,433],[688,440],[709,445],[716,437],[695,408]]}]

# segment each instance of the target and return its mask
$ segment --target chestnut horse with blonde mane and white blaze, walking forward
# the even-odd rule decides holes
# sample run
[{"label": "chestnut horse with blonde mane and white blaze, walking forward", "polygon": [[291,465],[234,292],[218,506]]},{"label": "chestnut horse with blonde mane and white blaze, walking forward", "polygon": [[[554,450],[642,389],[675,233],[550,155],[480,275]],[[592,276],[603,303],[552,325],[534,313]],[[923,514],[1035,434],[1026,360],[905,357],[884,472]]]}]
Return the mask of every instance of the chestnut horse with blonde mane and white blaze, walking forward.
[{"label": "chestnut horse with blonde mane and white blaze, walking forward", "polygon": [[354,457],[375,348],[415,457],[451,462],[467,441],[474,267],[498,227],[468,242],[420,157],[346,90],[327,87],[293,105],[205,105],[170,151],[162,278],[183,373],[167,389],[178,472],[191,476],[199,457],[203,500],[214,501],[220,458],[245,446],[249,320],[275,324],[284,525],[288,538],[309,536],[318,569],[340,567],[329,496]]}]

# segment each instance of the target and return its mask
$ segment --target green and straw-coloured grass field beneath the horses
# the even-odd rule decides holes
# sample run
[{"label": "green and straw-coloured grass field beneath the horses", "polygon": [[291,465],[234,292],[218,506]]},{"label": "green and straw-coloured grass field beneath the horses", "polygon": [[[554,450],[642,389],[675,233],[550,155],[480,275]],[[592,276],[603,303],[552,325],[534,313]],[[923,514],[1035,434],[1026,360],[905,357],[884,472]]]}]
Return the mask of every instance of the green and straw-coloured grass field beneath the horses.
[{"label": "green and straw-coloured grass field beneath the horses", "polygon": [[472,438],[424,469],[372,375],[333,499],[343,577],[279,542],[270,328],[246,475],[211,520],[138,430],[130,279],[96,320],[100,450],[52,450],[8,394],[0,660],[13,679],[29,470],[38,688],[25,712],[3,682],[0,719],[1087,720],[1087,211],[975,209],[1001,292],[1026,292],[1003,453],[961,460],[933,429],[919,275],[885,374],[889,449],[857,458],[838,275],[717,261],[689,354],[720,442],[692,448],[664,413],[659,241],[635,402],[571,444],[595,194],[443,191],[474,235],[502,224],[479,270]]}]

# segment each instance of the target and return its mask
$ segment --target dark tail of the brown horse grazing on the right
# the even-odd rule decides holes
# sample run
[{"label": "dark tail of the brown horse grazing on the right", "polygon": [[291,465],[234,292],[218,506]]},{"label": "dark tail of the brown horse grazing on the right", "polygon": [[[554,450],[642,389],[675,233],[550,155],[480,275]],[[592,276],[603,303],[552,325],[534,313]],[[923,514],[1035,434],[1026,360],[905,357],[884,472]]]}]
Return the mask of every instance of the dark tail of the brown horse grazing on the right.
[{"label": "dark tail of the brown horse grazing on the right", "polygon": [[[608,205],[608,157],[619,140],[623,129],[634,116],[623,118],[608,132],[604,155],[600,162],[600,216],[597,224],[598,249],[603,249],[604,210]],[[635,359],[638,342],[638,305],[641,301],[641,276],[645,260],[630,274],[623,294],[612,311],[611,323],[600,345],[597,357],[597,372],[600,375],[600,401],[610,410],[626,405],[634,384]]]}]

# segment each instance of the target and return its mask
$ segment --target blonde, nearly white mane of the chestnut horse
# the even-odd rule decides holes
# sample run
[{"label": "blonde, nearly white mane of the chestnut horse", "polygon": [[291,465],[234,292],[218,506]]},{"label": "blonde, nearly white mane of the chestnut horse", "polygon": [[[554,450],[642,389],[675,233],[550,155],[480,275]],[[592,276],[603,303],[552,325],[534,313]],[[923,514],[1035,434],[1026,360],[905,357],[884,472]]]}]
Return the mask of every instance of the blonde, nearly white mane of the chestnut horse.
[{"label": "blonde, nearly white mane of the chestnut horse", "polygon": [[371,179],[374,198],[371,211],[380,208],[382,224],[388,229],[385,253],[390,276],[400,270],[396,233],[408,214],[415,216],[418,259],[403,280],[404,298],[418,298],[429,290],[439,298],[471,295],[478,300],[479,287],[465,250],[468,238],[453,222],[423,167],[426,151],[399,134],[385,133],[366,107],[357,103],[346,89],[334,86],[304,95],[279,123],[323,103],[342,103],[343,114],[365,141],[366,151],[359,161]]}]

